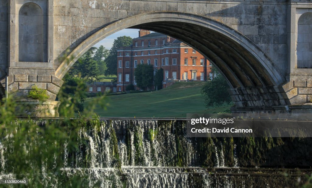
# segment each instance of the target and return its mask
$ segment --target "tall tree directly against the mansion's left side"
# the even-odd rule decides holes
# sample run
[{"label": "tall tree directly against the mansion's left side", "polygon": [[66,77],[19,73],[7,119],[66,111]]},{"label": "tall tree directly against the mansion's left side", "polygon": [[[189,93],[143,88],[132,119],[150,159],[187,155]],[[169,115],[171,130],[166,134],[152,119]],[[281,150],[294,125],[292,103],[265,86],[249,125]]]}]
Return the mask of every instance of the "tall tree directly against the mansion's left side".
[{"label": "tall tree directly against the mansion's left side", "polygon": [[117,49],[122,46],[130,46],[132,44],[132,38],[130,36],[119,36],[114,40],[113,46],[110,49],[110,53],[105,59],[106,67],[105,75],[117,74]]}]

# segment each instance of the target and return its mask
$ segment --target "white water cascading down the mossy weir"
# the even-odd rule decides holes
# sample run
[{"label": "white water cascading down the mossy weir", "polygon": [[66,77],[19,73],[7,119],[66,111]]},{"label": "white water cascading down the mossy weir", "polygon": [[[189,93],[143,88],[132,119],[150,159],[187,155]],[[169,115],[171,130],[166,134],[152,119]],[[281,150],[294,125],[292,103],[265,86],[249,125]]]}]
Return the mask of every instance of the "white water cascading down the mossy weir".
[{"label": "white water cascading down the mossy weir", "polygon": [[[275,187],[284,187],[277,183],[285,181],[278,169],[238,168],[239,160],[245,166],[261,165],[261,158],[249,152],[254,149],[249,147],[255,145],[249,142],[255,141],[186,137],[185,121],[102,120],[81,126],[77,135],[71,141],[77,143],[77,148],[70,147],[70,141],[62,144],[61,165],[53,157],[52,169],[61,166],[61,175],[49,174],[46,161],[41,165],[43,179],[49,179],[47,182],[53,182],[54,187],[60,187],[61,181],[75,186],[71,181],[75,178],[84,180],[88,187],[238,188],[267,187],[267,184],[273,187],[270,182],[275,182]],[[237,144],[243,142],[246,147],[238,148]],[[0,142],[0,178],[15,176],[5,171],[6,149]],[[250,158],[258,161],[251,164]],[[259,178],[262,183],[257,182]]]}]

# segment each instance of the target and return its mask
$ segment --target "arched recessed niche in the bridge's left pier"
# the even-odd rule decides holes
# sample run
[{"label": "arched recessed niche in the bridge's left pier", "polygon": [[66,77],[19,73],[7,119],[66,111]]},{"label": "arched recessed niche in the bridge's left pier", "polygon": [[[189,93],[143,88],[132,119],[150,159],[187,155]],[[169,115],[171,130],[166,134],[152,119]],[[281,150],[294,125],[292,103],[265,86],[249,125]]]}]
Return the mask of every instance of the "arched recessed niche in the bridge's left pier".
[{"label": "arched recessed niche in the bridge's left pier", "polygon": [[41,7],[25,3],[18,14],[18,61],[46,61],[46,25]]}]

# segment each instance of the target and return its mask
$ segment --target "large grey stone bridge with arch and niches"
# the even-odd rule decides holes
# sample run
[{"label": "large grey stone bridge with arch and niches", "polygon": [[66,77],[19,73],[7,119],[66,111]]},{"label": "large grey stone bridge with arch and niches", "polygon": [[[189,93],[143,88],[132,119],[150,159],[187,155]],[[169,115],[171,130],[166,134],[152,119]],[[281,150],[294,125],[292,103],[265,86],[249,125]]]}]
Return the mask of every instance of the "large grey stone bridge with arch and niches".
[{"label": "large grey stone bridge with arch and niches", "polygon": [[202,52],[235,112],[312,109],[312,2],[302,0],[0,0],[2,95],[25,98],[36,84],[54,101],[73,63],[124,28]]}]

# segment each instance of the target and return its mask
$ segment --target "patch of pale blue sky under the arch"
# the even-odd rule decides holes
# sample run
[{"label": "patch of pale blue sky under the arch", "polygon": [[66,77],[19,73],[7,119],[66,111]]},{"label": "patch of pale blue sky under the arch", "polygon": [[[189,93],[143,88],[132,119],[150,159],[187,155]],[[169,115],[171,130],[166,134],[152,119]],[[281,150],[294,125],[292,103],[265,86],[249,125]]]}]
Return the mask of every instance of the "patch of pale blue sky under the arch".
[{"label": "patch of pale blue sky under the arch", "polygon": [[94,46],[99,47],[103,45],[106,49],[110,50],[110,48],[113,45],[114,40],[119,36],[130,36],[131,38],[137,38],[139,37],[139,29],[123,29],[121,31],[115,32],[114,34],[101,40]]}]

